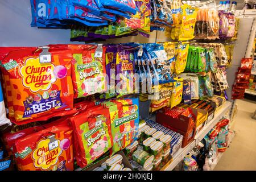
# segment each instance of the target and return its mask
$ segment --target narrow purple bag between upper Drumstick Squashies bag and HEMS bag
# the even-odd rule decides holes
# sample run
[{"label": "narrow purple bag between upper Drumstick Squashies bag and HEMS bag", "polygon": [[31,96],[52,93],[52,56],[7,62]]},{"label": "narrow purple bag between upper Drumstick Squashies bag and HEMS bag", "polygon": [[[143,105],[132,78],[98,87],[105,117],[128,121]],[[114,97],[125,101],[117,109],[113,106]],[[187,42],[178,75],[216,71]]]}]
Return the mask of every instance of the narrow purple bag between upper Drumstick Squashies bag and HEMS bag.
[{"label": "narrow purple bag between upper Drumstick Squashies bag and HEMS bag", "polygon": [[106,74],[108,75],[108,91],[105,98],[116,96],[115,94],[115,62],[117,58],[117,46],[109,45],[106,47]]}]

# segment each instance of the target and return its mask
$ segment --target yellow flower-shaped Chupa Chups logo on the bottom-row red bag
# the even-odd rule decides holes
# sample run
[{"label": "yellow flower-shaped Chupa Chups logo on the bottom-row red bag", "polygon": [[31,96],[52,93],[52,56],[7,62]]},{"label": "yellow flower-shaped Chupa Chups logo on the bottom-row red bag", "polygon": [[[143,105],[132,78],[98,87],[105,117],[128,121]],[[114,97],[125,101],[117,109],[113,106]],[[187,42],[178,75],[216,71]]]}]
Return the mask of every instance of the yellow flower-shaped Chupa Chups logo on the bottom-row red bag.
[{"label": "yellow flower-shaped Chupa Chups logo on the bottom-row red bag", "polygon": [[[58,142],[60,144],[59,140]],[[34,166],[36,168],[42,168],[43,170],[46,170],[58,162],[62,150],[60,149],[60,147],[56,147],[53,150],[49,151],[48,144],[49,139],[40,140],[38,146],[34,150],[32,158],[34,159]]]}]

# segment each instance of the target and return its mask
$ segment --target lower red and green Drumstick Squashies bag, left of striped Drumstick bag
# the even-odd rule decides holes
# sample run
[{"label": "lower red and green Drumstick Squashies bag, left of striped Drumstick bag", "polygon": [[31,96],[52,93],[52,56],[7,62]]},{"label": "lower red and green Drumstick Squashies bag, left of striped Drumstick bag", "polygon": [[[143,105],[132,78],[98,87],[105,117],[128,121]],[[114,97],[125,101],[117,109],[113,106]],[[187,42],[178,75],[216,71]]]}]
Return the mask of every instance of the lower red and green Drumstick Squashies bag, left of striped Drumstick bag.
[{"label": "lower red and green Drumstick Squashies bag, left of striped Drumstick bag", "polygon": [[71,118],[77,143],[76,160],[83,168],[112,148],[109,110],[94,106]]}]

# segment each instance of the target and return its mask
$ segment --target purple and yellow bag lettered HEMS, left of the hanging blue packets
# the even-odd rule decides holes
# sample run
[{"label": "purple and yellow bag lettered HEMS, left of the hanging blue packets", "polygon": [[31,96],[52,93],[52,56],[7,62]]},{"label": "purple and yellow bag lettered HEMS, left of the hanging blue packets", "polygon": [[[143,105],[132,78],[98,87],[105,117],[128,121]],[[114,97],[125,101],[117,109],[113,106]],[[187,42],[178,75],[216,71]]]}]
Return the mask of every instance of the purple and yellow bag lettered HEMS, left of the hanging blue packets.
[{"label": "purple and yellow bag lettered HEMS, left of the hanging blue packets", "polygon": [[115,64],[117,97],[134,93],[134,49],[120,45],[117,48]]}]

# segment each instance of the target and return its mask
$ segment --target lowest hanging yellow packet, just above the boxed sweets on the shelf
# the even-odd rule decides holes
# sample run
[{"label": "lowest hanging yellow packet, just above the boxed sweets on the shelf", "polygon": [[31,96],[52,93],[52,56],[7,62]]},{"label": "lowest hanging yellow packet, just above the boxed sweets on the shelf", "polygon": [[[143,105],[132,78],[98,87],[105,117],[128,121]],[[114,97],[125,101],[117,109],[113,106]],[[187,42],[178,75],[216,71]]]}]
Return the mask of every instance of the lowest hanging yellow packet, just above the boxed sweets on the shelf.
[{"label": "lowest hanging yellow packet, just above the boxed sweets on the shelf", "polygon": [[179,105],[183,94],[183,78],[175,78],[174,86],[172,88],[170,107]]}]

